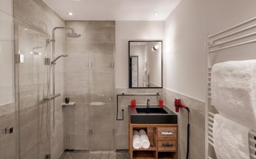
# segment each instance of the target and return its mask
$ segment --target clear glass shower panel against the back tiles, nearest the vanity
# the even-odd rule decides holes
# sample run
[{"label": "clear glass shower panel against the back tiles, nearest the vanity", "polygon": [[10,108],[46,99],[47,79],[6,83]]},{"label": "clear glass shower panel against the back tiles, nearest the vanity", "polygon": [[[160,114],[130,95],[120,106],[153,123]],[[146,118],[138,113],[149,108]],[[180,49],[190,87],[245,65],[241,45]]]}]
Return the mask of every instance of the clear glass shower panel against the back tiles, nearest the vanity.
[{"label": "clear glass shower panel against the back tiles, nearest the vanity", "polygon": [[114,43],[89,44],[90,150],[115,149]]}]

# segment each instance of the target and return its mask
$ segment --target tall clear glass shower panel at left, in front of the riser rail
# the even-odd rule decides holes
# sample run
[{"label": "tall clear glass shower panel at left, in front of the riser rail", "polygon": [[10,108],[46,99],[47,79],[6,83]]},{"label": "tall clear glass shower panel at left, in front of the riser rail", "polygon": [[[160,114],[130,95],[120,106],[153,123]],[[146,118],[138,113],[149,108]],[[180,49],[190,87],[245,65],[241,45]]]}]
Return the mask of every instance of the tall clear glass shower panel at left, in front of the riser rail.
[{"label": "tall clear glass shower panel at left, in front of the riser rail", "polygon": [[[47,102],[50,65],[49,36],[18,26],[18,126],[19,157],[46,158],[50,154],[47,137]],[[49,126],[49,125],[48,125]]]}]

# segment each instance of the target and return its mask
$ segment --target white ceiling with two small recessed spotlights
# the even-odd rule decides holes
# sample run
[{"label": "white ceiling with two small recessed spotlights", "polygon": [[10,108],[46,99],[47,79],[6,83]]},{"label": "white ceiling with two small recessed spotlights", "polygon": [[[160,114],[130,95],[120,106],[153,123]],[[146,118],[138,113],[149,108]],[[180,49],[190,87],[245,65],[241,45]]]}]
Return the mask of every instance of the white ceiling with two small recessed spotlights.
[{"label": "white ceiling with two small recessed spotlights", "polygon": [[64,20],[165,20],[181,0],[43,1]]}]

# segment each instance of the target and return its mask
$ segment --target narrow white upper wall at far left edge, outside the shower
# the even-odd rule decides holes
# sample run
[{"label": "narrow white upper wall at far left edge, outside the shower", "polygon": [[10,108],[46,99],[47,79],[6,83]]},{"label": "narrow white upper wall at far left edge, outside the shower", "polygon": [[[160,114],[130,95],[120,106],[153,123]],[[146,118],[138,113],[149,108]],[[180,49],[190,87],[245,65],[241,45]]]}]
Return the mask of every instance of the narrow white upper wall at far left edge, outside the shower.
[{"label": "narrow white upper wall at far left edge, outside the shower", "polygon": [[14,101],[12,1],[0,2],[0,105]]}]

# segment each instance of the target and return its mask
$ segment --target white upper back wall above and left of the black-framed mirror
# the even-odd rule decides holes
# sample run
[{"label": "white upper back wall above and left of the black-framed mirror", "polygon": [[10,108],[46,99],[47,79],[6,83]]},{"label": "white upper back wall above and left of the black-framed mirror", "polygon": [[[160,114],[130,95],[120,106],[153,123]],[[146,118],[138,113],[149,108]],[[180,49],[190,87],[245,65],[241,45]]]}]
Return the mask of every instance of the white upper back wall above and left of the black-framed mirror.
[{"label": "white upper back wall above and left of the black-framed mirror", "polygon": [[116,21],[116,88],[129,87],[128,41],[164,39],[164,21]]}]

